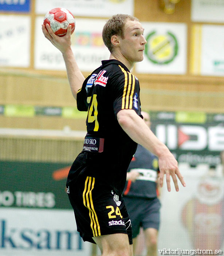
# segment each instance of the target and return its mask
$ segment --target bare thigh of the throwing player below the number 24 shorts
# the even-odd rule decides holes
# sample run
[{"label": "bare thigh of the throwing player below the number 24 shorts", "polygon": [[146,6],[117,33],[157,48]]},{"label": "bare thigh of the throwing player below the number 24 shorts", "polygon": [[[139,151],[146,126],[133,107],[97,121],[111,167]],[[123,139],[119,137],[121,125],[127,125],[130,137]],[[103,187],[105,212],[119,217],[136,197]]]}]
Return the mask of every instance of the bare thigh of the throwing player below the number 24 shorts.
[{"label": "bare thigh of the throwing player below the number 24 shorts", "polygon": [[93,237],[102,256],[133,256],[133,246],[129,245],[127,234],[110,234]]}]

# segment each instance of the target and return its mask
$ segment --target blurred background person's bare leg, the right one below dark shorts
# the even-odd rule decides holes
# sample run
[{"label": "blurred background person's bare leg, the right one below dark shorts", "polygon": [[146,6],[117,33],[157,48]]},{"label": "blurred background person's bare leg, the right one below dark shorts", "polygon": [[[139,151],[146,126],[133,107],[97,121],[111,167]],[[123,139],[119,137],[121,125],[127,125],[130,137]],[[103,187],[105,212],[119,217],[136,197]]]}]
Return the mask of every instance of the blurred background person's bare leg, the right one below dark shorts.
[{"label": "blurred background person's bare leg, the right one below dark shorts", "polygon": [[146,256],[157,256],[157,235],[158,230],[152,227],[144,230],[145,243],[147,248]]}]

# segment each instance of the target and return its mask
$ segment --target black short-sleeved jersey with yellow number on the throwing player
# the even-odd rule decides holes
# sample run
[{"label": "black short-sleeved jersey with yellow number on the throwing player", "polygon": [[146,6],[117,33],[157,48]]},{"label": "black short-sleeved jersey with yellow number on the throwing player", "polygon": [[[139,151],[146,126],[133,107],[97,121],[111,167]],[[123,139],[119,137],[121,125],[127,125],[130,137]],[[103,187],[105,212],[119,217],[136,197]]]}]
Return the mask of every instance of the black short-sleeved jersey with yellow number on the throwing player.
[{"label": "black short-sleeved jersey with yellow number on the throwing player", "polygon": [[138,79],[118,60],[102,61],[85,79],[77,93],[77,108],[88,111],[87,135],[67,184],[82,173],[98,178],[118,195],[122,193],[137,143],[123,131],[117,113],[133,109],[141,116],[139,90]]}]

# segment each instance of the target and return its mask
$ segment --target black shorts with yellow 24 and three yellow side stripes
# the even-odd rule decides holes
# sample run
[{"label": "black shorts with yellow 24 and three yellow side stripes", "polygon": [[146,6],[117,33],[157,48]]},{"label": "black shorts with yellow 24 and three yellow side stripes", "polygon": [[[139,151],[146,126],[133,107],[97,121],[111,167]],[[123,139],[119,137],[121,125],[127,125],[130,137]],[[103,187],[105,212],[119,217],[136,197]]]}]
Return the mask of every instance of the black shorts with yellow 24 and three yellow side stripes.
[{"label": "black shorts with yellow 24 and three yellow side stripes", "polygon": [[124,233],[132,244],[131,221],[121,196],[85,175],[67,184],[67,193],[83,241],[95,244],[92,237]]}]

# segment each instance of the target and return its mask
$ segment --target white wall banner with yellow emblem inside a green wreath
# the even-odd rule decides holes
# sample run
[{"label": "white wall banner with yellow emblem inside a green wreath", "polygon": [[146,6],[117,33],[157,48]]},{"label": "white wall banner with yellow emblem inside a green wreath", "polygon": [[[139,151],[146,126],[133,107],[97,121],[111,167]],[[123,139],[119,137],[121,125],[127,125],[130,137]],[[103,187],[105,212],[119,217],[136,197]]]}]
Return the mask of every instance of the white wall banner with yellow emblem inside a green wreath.
[{"label": "white wall banner with yellow emblem inside a green wreath", "polygon": [[186,73],[186,25],[142,22],[147,40],[144,60],[135,64],[138,73]]}]

